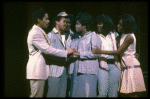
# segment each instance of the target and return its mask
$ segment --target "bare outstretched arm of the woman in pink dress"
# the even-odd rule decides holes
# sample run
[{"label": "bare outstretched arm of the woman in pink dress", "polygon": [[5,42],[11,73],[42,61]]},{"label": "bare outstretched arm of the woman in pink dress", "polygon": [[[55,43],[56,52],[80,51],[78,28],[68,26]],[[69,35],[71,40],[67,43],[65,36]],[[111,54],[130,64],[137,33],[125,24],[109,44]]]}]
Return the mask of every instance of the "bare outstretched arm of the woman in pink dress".
[{"label": "bare outstretched arm of the woman in pink dress", "polygon": [[128,48],[128,46],[133,43],[133,37],[131,37],[130,35],[128,35],[123,44],[118,48],[118,50],[115,51],[105,51],[105,50],[100,50],[98,48],[93,49],[92,52],[93,53],[97,53],[97,54],[109,54],[109,55],[120,55],[120,53],[122,53],[125,49]]}]

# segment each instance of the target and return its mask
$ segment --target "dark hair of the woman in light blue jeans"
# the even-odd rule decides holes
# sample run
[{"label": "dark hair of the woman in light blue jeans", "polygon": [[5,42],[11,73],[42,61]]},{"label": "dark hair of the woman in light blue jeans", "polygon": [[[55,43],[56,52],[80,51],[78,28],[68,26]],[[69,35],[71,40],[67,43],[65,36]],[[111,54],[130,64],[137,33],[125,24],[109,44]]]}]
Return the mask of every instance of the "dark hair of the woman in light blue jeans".
[{"label": "dark hair of the woman in light blue jeans", "polygon": [[101,14],[96,16],[95,23],[103,23],[102,31],[106,32],[107,34],[115,29],[115,25],[111,17],[108,15]]}]

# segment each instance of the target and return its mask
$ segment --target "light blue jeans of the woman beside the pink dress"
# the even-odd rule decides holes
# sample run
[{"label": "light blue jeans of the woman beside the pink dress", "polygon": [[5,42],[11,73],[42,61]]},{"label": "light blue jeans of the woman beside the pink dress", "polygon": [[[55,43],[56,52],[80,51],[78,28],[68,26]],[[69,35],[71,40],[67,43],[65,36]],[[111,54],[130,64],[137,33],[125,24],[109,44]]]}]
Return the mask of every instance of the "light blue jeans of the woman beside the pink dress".
[{"label": "light blue jeans of the woman beside the pink dress", "polygon": [[108,70],[99,68],[97,97],[117,97],[120,70],[114,64],[108,64]]}]

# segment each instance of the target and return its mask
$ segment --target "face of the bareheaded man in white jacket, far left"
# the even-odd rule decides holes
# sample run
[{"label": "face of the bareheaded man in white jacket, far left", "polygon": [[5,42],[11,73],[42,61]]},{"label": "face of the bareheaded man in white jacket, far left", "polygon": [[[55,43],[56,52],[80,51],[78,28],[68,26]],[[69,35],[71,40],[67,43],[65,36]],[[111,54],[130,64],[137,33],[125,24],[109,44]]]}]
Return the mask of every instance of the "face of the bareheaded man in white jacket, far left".
[{"label": "face of the bareheaded man in white jacket, far left", "polygon": [[49,26],[49,19],[48,19],[48,14],[46,13],[45,16],[43,17],[43,20],[38,19],[39,25],[41,28],[45,29]]}]

